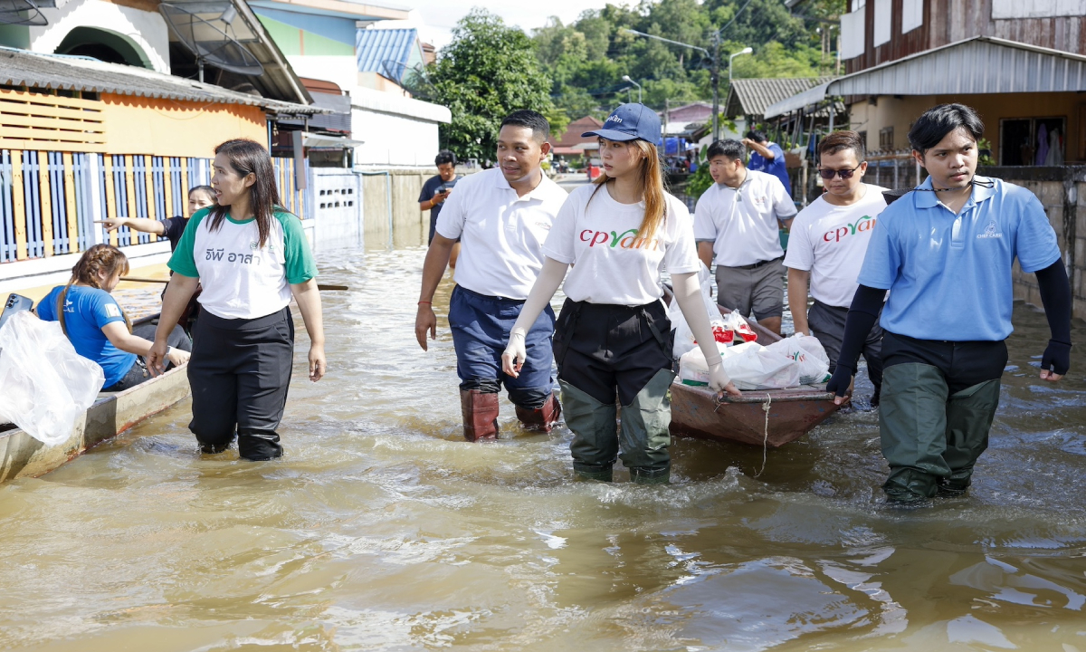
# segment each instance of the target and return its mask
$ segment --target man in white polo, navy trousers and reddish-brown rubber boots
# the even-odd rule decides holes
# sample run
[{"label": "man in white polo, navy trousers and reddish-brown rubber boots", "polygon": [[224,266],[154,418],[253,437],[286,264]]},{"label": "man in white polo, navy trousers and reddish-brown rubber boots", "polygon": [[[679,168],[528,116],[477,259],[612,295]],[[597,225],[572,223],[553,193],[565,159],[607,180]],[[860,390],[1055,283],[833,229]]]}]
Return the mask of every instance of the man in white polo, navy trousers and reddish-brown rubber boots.
[{"label": "man in white polo, navy trousers and reddish-brown rubber boots", "polygon": [[534,111],[515,111],[502,122],[498,166],[456,185],[438,217],[422,266],[415,337],[425,351],[427,333],[437,337],[433,292],[459,239],[449,326],[468,441],[497,437],[502,385],[525,426],[550,431],[560,414],[551,377],[555,317],[550,306],[528,331],[523,369],[516,377],[502,373],[509,330],[543,267],[543,241],[568,195],[540,167],[551,151],[550,135],[546,118]]}]

